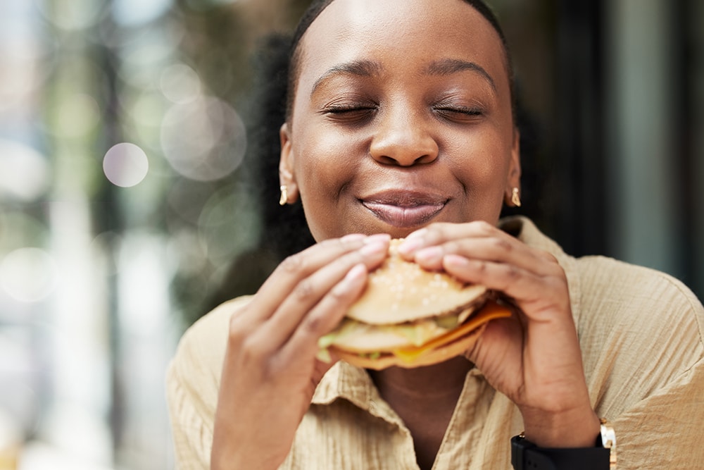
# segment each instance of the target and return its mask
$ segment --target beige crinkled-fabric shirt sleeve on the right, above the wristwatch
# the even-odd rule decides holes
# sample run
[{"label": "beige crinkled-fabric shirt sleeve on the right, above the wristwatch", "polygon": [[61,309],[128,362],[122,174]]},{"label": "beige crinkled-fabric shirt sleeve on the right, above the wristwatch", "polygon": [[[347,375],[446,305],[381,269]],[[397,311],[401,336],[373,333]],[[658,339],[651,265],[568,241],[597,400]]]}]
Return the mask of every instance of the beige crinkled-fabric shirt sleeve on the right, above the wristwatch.
[{"label": "beige crinkled-fabric shirt sleeve on the right, above the wristwatch", "polygon": [[585,373],[618,469],[704,469],[704,309],[679,280],[601,259],[582,286]]}]

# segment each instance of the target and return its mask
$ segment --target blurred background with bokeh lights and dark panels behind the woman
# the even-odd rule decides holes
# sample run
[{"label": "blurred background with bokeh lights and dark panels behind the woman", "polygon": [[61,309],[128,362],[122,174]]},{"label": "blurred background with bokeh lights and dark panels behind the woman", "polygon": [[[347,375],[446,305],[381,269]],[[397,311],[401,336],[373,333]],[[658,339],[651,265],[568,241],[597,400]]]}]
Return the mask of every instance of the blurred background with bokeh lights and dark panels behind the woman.
[{"label": "blurred background with bokeh lights and dark panels behind the woman", "polygon": [[[527,110],[522,213],[702,297],[704,2],[489,3]],[[282,256],[253,64],[306,4],[0,0],[0,470],[173,468],[178,338]]]}]

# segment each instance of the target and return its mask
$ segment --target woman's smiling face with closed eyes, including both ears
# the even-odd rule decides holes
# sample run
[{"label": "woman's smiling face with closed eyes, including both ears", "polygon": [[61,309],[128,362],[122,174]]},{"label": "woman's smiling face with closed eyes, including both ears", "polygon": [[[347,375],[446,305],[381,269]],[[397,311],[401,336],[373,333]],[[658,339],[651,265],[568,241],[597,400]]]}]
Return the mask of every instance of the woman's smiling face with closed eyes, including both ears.
[{"label": "woman's smiling face with closed eyes, including both ears", "polygon": [[316,240],[498,221],[518,137],[501,39],[480,13],[336,0],[300,47],[279,170]]}]

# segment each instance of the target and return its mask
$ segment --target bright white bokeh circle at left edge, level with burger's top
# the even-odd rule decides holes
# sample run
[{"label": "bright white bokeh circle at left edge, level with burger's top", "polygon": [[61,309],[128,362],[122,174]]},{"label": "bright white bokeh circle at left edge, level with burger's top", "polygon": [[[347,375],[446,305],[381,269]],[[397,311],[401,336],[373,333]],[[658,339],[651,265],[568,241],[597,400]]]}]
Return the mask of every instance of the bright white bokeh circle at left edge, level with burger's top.
[{"label": "bright white bokeh circle at left edge, level with burger's top", "polygon": [[54,290],[56,263],[43,249],[15,249],[0,261],[0,286],[20,302],[38,302]]}]

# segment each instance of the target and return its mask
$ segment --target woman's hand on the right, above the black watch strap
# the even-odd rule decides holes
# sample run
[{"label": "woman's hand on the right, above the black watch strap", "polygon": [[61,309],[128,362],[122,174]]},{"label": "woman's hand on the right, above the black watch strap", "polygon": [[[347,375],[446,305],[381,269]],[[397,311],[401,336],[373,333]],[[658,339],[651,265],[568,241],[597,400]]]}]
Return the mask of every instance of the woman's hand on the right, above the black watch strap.
[{"label": "woman's hand on the right, above the black watch strap", "polygon": [[503,292],[518,311],[490,321],[467,358],[523,416],[542,447],[591,447],[599,430],[586,388],[567,278],[554,256],[477,221],[435,223],[399,251],[432,270]]}]

